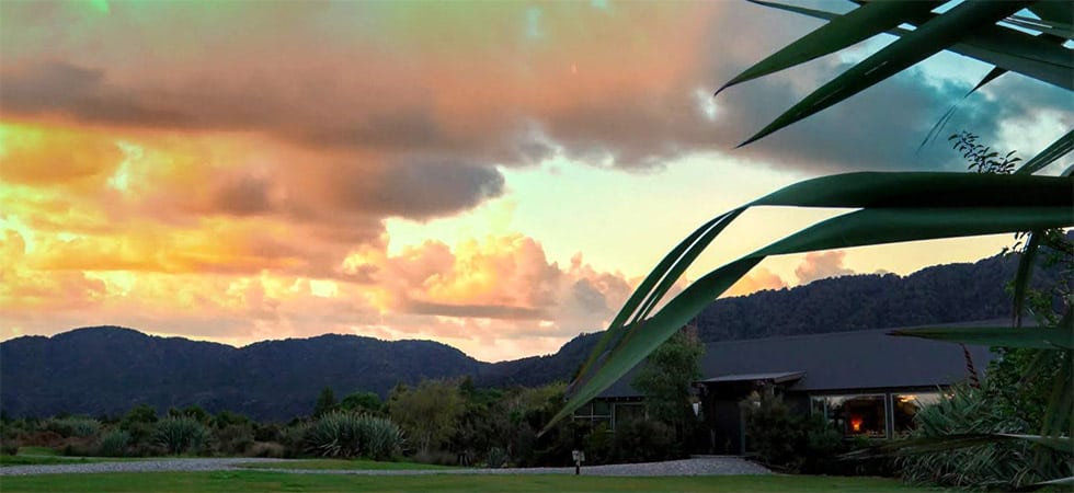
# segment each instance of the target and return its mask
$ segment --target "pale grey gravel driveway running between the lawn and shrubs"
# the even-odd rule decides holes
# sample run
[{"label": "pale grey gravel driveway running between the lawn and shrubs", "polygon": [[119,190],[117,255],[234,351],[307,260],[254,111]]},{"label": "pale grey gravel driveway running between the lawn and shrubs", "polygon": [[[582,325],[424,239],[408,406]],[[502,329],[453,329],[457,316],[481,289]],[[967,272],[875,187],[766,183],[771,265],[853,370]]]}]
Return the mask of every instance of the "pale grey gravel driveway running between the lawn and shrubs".
[{"label": "pale grey gravel driveway running between the lawn and shrubs", "polygon": [[[213,459],[160,459],[127,462],[62,463],[47,466],[13,466],[0,468],[0,477],[27,474],[70,474],[94,472],[160,472],[160,471],[227,471],[238,470],[240,463],[271,462],[278,468],[258,471],[290,472],[304,474],[573,474],[574,468],[506,468],[506,469],[435,469],[435,470],[312,470],[288,469],[288,459],[213,458]],[[251,469],[247,469],[251,470]],[[666,462],[621,463],[583,467],[585,475],[717,475],[717,474],[768,474],[769,470],[739,457],[712,456]]]}]

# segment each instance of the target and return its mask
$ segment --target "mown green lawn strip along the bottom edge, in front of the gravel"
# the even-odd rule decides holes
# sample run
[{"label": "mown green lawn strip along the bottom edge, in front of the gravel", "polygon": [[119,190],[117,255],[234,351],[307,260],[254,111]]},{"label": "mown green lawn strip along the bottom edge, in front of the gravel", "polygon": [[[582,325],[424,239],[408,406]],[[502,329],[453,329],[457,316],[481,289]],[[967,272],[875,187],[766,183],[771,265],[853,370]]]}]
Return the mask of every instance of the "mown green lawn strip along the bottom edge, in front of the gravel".
[{"label": "mown green lawn strip along the bottom edge, in front of the gravel", "polygon": [[357,475],[282,472],[146,472],[0,478],[15,492],[906,492],[923,491],[882,478],[722,475],[610,478],[573,475]]}]

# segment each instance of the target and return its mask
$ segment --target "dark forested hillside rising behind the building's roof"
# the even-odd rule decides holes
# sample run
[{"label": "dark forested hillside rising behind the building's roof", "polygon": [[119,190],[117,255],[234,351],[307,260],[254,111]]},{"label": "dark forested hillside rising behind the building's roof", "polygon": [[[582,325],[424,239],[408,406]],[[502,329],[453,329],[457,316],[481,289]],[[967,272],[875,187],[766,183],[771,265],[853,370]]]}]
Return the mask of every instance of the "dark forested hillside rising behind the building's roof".
[{"label": "dark forested hillside rising behind the building's roof", "polygon": [[[721,299],[698,316],[698,333],[709,343],[1009,319],[1007,286],[1017,264],[1017,255],[996,255],[905,277],[852,275]],[[1061,268],[1038,268],[1033,286],[1054,284]]]}]

